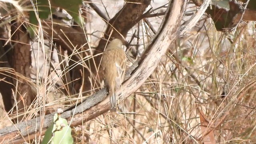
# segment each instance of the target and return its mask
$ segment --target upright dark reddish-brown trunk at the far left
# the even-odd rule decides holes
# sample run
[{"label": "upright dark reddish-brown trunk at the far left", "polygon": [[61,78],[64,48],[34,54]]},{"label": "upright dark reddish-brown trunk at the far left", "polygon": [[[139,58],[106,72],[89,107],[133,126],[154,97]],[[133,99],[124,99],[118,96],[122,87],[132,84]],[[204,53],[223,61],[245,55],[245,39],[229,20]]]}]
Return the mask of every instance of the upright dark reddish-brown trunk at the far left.
[{"label": "upright dark reddish-brown trunk at the far left", "polygon": [[[12,45],[14,46],[12,68],[15,70],[14,75],[16,76],[16,82],[18,82],[16,100],[22,100],[18,103],[18,109],[21,110],[29,106],[35,98],[35,95],[30,91],[31,87],[28,80],[31,73],[30,37],[26,28],[17,21],[12,21],[11,32]],[[17,73],[24,77],[17,75]],[[14,85],[16,82],[14,82]]]}]

